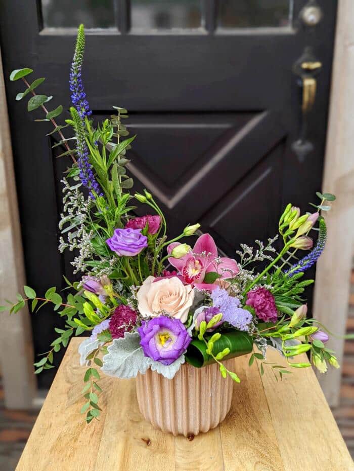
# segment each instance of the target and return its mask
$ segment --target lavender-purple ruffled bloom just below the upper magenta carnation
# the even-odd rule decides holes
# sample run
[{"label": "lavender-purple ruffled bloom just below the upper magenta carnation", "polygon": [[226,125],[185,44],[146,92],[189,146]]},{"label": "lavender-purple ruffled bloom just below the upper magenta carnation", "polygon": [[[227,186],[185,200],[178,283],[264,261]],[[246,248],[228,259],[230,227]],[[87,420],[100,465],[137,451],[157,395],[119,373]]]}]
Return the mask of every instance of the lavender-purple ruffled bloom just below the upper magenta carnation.
[{"label": "lavender-purple ruffled bloom just below the upper magenta carnation", "polygon": [[148,238],[142,234],[141,229],[115,229],[106,243],[121,257],[134,257],[148,246]]}]

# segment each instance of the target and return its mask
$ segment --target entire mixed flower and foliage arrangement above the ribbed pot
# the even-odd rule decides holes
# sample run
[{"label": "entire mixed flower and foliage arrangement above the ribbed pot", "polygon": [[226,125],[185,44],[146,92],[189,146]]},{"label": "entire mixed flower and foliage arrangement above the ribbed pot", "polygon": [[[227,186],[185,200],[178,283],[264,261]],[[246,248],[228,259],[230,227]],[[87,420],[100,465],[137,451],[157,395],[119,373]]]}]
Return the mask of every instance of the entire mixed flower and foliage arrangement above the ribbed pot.
[{"label": "entire mixed flower and foliage arrangement above the ribbed pot", "polygon": [[[55,329],[58,338],[50,350],[34,364],[35,373],[53,368],[54,353],[67,346],[72,335],[88,333],[79,355],[81,364],[88,367],[81,412],[90,423],[101,411],[100,372],[131,378],[150,368],[172,379],[185,362],[195,368],[217,364],[224,378],[240,382],[225,361],[251,353],[250,366],[254,360],[261,361],[261,372],[267,365],[282,378],[292,368],[311,366],[296,362],[303,352],[311,352],[313,365],[323,373],[328,364],[338,368],[334,352],[326,348],[324,327],[307,317],[301,297],[313,283],[303,279],[304,273],[326,242],[326,224],[319,211],[330,209],[325,203],[334,201],[334,195],[317,193],[321,201],[313,205],[313,213],[301,214],[288,204],[279,220],[279,234],[265,245],[256,241],[257,249],[242,245],[238,261],[220,257],[212,237],[198,232],[199,224],[188,225],[168,239],[166,220],[152,194],[128,191],[133,181],[126,173],[126,152],[135,136],[128,137],[122,124],[128,117],[126,109],[114,106],[116,114],[99,124],[90,117],[81,76],[84,44],[81,25],[70,69],[73,106],[63,125],[55,121],[62,106],[48,111],[51,97],[34,91],[43,78],[30,85],[25,77],[33,71],[28,68],[14,70],[10,76],[26,85],[16,99],[32,95],[28,111],[44,111],[45,119],[37,121],[52,122],[54,130],[49,134],[59,134],[58,144],[65,147],[62,156],[72,160],[62,179],[59,250],[75,251],[74,272],[82,273],[80,282],[64,277],[65,300],[55,287],[38,297],[25,286],[24,296],[18,294],[16,303],[2,306],[12,313],[25,302],[31,302],[32,311],[51,303],[66,320],[65,329]],[[65,138],[62,130],[68,127],[73,136]],[[69,146],[71,140],[74,148]],[[149,214],[135,217],[132,199],[145,204]],[[308,235],[313,230],[319,231],[314,247]],[[188,245],[186,241],[196,235]],[[297,258],[299,250],[309,252]],[[260,272],[257,262],[267,263]],[[254,345],[258,352],[252,353]],[[269,347],[281,352],[285,366],[266,361]]]}]

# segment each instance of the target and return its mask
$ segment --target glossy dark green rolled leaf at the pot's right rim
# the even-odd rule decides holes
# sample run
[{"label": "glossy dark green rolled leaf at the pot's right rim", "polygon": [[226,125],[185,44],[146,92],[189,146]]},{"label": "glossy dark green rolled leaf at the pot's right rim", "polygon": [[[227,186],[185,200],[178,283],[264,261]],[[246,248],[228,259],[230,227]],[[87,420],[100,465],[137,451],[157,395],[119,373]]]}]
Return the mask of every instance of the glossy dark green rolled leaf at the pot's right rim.
[{"label": "glossy dark green rolled leaf at the pot's right rim", "polygon": [[[205,340],[208,341],[208,338],[205,338]],[[230,348],[230,353],[223,358],[223,361],[228,360],[229,358],[241,357],[242,355],[250,353],[253,348],[253,340],[248,334],[246,334],[246,332],[238,330],[222,333],[220,339],[214,343],[214,347],[212,349],[213,356],[216,357],[216,355],[225,348]],[[207,354],[206,350],[207,346],[204,341],[196,338],[189,344],[185,359],[196,368],[210,365],[211,363],[214,363],[215,360],[211,355]]]}]

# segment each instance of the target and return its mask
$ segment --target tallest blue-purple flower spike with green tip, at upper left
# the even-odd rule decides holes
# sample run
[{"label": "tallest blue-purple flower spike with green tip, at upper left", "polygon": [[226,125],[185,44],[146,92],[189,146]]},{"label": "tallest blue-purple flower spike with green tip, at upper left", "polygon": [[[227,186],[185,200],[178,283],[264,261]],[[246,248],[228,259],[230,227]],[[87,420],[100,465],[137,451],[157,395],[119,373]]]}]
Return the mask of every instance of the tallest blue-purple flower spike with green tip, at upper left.
[{"label": "tallest blue-purple flower spike with green tip, at upper left", "polygon": [[77,31],[77,40],[75,46],[74,57],[70,68],[70,91],[72,92],[71,101],[75,106],[81,120],[85,116],[90,116],[89,102],[86,100],[86,94],[82,85],[81,68],[83,61],[83,53],[85,50],[85,33],[83,25],[81,24]]}]

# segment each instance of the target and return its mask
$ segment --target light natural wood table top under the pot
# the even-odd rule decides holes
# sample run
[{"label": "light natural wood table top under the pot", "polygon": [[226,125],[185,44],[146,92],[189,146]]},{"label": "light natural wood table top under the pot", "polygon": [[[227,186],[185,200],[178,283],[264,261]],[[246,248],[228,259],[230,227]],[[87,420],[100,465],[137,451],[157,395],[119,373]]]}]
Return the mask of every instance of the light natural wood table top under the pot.
[{"label": "light natural wood table top under the pot", "polygon": [[[145,422],[134,380],[104,377],[99,421],[86,425],[82,377],[72,339],[16,471],[347,471],[353,462],[311,368],[276,381],[249,356],[235,360],[225,421],[193,440]],[[268,350],[268,361],[282,362]],[[300,360],[301,361],[301,360]],[[280,363],[282,364],[282,363]],[[267,366],[267,365],[266,365]]]}]

